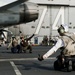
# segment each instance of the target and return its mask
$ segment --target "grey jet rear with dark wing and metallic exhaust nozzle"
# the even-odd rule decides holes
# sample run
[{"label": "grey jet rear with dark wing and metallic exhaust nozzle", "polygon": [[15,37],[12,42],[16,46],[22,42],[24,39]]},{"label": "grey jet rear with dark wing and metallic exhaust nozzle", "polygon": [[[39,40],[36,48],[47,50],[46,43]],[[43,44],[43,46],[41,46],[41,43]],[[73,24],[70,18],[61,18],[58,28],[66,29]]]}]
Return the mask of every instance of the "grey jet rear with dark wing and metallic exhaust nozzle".
[{"label": "grey jet rear with dark wing and metallic exhaust nozzle", "polygon": [[38,5],[28,0],[16,0],[0,7],[0,32],[3,28],[38,19]]}]

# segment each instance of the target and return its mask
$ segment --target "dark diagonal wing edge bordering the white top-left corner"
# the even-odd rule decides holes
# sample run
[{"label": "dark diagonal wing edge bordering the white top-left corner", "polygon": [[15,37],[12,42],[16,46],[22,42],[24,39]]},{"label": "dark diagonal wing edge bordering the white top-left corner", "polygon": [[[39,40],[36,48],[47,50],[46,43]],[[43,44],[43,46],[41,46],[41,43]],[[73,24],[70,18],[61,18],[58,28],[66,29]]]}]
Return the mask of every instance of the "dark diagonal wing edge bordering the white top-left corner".
[{"label": "dark diagonal wing edge bordering the white top-left corner", "polygon": [[0,7],[0,12],[2,12],[4,10],[7,10],[7,9],[9,9],[11,7],[14,7],[14,6],[18,5],[18,4],[21,4],[23,2],[26,2],[26,1],[28,1],[28,0],[17,0],[15,2],[9,3],[9,4],[5,5],[5,6]]}]

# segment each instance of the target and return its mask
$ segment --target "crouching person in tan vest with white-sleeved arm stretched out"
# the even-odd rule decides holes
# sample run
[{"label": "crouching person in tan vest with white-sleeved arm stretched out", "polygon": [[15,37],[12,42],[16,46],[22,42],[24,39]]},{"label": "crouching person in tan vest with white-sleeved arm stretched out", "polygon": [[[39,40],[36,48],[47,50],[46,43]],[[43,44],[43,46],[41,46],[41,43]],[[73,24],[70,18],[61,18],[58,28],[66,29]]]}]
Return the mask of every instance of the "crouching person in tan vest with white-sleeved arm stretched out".
[{"label": "crouching person in tan vest with white-sleeved arm stretched out", "polygon": [[75,70],[75,60],[72,61],[72,58],[75,57],[75,34],[69,33],[66,25],[61,25],[58,28],[58,33],[60,36],[56,45],[44,55],[39,55],[38,60],[42,61],[55,53],[58,49],[61,49],[60,55],[54,62],[54,69],[62,70],[67,68],[67,71]]}]

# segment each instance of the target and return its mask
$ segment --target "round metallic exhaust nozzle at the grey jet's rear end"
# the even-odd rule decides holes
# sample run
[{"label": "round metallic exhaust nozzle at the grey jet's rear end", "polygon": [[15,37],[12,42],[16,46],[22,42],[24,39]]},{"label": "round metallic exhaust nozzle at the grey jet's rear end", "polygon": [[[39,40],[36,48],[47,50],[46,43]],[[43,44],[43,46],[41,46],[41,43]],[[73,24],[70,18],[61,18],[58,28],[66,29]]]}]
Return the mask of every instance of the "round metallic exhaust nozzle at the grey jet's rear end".
[{"label": "round metallic exhaust nozzle at the grey jet's rear end", "polygon": [[26,23],[35,21],[38,18],[38,5],[31,2],[25,2],[21,5],[20,22]]}]

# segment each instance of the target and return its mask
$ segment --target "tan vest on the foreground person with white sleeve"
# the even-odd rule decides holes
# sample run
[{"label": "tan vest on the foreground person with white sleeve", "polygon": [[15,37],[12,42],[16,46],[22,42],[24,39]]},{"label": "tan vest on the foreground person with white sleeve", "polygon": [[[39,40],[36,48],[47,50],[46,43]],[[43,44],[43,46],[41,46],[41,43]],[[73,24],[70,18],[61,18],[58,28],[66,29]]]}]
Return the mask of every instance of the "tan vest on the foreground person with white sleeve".
[{"label": "tan vest on the foreground person with white sleeve", "polygon": [[75,35],[67,33],[65,36],[62,36],[61,39],[65,44],[63,54],[65,56],[75,55]]}]

